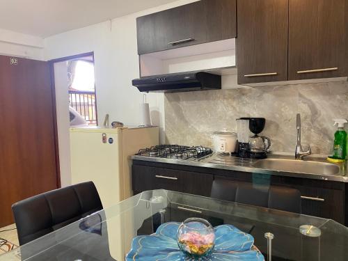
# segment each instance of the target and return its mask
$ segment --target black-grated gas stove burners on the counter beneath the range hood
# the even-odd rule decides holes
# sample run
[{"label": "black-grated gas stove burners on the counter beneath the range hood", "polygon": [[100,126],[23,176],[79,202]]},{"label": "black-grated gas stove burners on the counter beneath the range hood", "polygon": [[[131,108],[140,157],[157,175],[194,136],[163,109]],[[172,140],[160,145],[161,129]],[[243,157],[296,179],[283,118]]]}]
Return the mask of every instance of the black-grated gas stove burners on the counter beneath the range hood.
[{"label": "black-grated gas stove burners on the counter beneath the range hood", "polygon": [[136,155],[166,159],[201,159],[212,153],[212,149],[203,146],[157,145],[141,149]]}]

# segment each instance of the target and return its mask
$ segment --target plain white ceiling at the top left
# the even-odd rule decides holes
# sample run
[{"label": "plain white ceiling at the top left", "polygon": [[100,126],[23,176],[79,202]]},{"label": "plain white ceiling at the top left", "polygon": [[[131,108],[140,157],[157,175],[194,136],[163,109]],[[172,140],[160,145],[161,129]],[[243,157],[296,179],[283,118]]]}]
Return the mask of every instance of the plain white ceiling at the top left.
[{"label": "plain white ceiling at the top left", "polygon": [[0,0],[0,28],[45,38],[175,0]]}]

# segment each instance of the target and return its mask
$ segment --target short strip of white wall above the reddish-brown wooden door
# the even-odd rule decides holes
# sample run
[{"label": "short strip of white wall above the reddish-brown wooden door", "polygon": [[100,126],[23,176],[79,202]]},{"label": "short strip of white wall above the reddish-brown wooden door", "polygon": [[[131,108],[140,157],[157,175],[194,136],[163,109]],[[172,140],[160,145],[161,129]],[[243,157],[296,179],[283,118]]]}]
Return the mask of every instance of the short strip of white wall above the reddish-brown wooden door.
[{"label": "short strip of white wall above the reddish-brown wooden door", "polygon": [[0,54],[43,60],[44,40],[32,35],[0,29]]}]

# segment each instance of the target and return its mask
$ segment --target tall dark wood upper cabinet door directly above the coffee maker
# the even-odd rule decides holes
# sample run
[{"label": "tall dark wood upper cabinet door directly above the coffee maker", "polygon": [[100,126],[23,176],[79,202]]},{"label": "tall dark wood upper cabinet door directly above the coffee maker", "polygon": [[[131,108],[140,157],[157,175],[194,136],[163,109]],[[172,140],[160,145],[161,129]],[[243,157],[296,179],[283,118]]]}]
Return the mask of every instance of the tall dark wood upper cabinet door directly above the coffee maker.
[{"label": "tall dark wood upper cabinet door directly above the coffee maker", "polygon": [[238,84],[287,80],[288,0],[237,1]]}]

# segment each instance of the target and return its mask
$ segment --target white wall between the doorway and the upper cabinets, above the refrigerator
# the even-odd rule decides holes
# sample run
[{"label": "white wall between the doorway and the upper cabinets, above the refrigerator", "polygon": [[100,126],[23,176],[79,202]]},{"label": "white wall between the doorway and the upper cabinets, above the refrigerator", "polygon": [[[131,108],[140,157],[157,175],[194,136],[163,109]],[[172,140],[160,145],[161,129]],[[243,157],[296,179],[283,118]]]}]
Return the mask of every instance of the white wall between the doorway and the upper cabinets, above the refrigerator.
[{"label": "white wall between the doorway and the upper cabinets, above the refrigerator", "polygon": [[[132,86],[139,77],[136,46],[136,17],[155,13],[196,0],[180,0],[45,39],[45,59],[94,52],[97,113],[100,123],[106,113],[110,120],[139,125],[139,104],[143,94]],[[149,94],[152,123],[164,128],[164,95]]]}]

